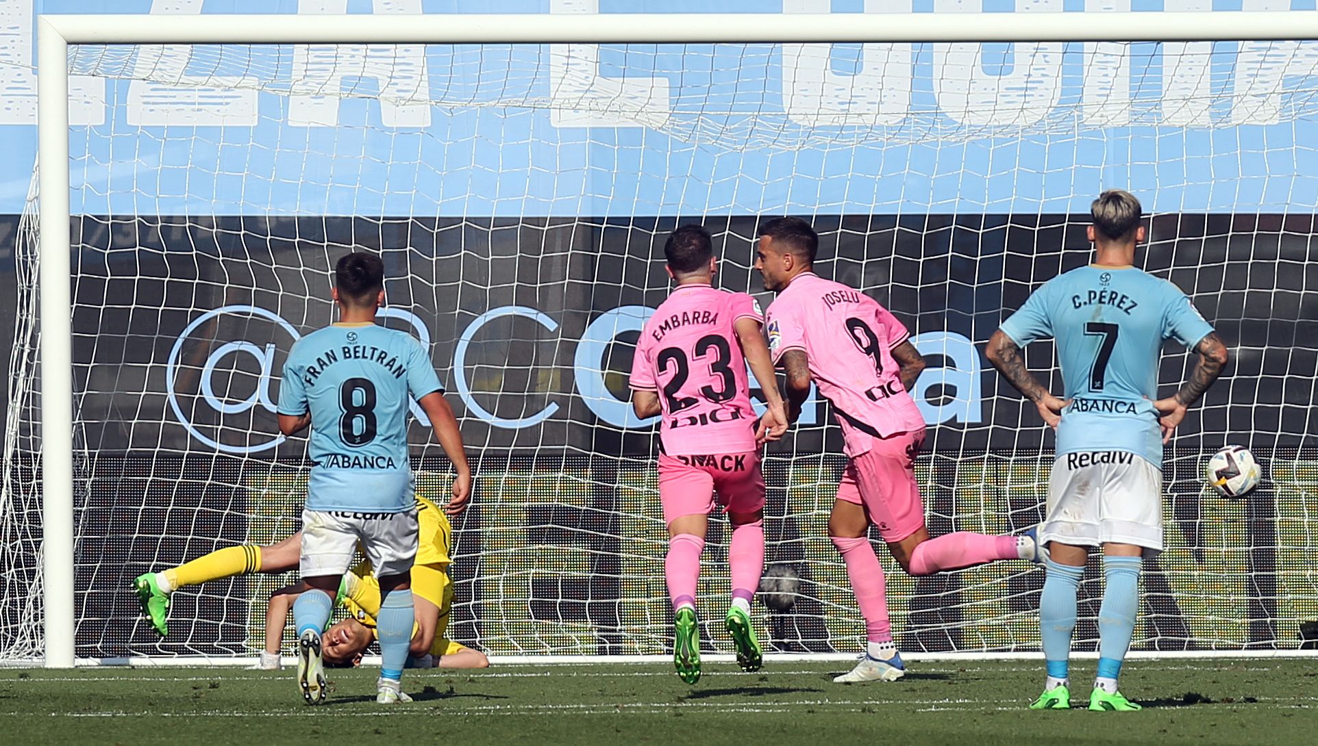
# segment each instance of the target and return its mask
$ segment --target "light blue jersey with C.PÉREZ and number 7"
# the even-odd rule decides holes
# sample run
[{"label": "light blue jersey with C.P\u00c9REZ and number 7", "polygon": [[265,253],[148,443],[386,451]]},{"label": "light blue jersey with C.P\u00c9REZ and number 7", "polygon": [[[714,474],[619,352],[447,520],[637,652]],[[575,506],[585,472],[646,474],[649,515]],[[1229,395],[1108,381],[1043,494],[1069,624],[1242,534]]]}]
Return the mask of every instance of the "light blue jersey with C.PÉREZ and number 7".
[{"label": "light blue jersey with C.P\u00c9REZ and number 7", "polygon": [[1157,399],[1164,339],[1189,349],[1213,333],[1181,288],[1133,267],[1079,267],[1035,291],[1002,325],[1024,347],[1057,339],[1070,405],[1057,454],[1128,451],[1162,464]]}]

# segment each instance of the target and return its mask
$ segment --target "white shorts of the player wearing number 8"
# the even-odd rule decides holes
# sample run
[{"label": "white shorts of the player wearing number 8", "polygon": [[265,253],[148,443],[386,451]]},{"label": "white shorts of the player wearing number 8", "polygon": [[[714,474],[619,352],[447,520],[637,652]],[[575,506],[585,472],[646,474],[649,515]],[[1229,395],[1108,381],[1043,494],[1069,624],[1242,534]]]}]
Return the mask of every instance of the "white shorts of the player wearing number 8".
[{"label": "white shorts of the player wearing number 8", "polygon": [[402,513],[302,510],[303,578],[343,575],[361,543],[376,578],[411,571],[416,559],[416,508]]}]

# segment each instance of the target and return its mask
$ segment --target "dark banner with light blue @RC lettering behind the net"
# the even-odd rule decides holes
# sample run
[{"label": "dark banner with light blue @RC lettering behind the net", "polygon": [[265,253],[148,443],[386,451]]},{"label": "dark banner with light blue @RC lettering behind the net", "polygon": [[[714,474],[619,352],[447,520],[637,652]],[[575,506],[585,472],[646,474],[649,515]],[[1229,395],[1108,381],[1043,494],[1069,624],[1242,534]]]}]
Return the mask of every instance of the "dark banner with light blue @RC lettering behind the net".
[{"label": "dark banner with light blue @RC lettering behind the net", "polygon": [[[626,382],[637,336],[668,293],[660,247],[672,218],[609,221],[600,230],[546,218],[494,226],[459,218],[228,217],[167,225],[140,217],[109,226],[99,220],[82,218],[74,230],[100,243],[80,253],[72,312],[75,376],[87,382],[80,432],[96,453],[301,457],[301,439],[278,435],[274,403],[289,349],[333,318],[332,266],[347,249],[327,251],[326,243],[340,246],[344,238],[381,251],[389,303],[380,320],[431,350],[468,442],[518,454],[654,449],[654,424],[631,412]],[[1313,314],[1301,305],[1282,316],[1285,299],[1298,295],[1288,288],[1306,280],[1294,270],[1278,276],[1278,267],[1305,263],[1307,243],[1259,233],[1232,245],[1217,272],[1177,267],[1178,254],[1232,220],[1153,220],[1162,239],[1145,266],[1197,299],[1235,361],[1181,425],[1177,445],[1311,447],[1318,438],[1306,420],[1311,408],[1292,401],[1313,399],[1314,324],[1296,321]],[[1012,233],[1037,246],[1082,245],[1078,222],[1036,222],[1024,216],[1010,226],[1000,216],[818,222],[828,230],[820,274],[891,308],[925,357],[912,396],[936,454],[1052,447],[1033,407],[982,358],[1003,309],[1019,308],[1031,287],[1089,261],[1087,249],[1045,261],[1004,251]],[[705,225],[720,237],[721,287],[762,293],[749,267],[750,242],[737,238],[754,234],[757,218]],[[455,282],[459,276],[467,280]],[[771,300],[760,295],[762,304]],[[1031,357],[1039,364],[1052,353],[1040,345]],[[1169,349],[1162,383],[1178,384],[1185,371],[1186,355]],[[426,442],[423,413],[413,413],[415,442]],[[837,450],[832,421],[812,397],[783,449]]]}]

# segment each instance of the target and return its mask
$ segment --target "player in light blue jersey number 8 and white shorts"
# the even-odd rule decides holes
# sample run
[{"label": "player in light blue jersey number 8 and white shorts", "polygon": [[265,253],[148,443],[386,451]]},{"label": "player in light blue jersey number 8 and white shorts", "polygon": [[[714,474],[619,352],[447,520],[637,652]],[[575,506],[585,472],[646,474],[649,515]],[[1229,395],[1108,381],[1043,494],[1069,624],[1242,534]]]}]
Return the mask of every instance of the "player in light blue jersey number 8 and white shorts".
[{"label": "player in light blue jersey number 8 and white shorts", "polygon": [[453,464],[449,509],[460,509],[472,489],[463,437],[430,351],[410,334],[376,324],[384,283],[378,255],[340,258],[333,288],[339,321],[293,345],[279,384],[279,430],[291,435],[311,428],[298,563],[308,589],[293,604],[298,683],[308,704],[326,697],[320,633],[358,542],[380,580],[376,701],[409,701],[401,679],[415,613],[409,575],[419,532],[407,454],[409,395]]}]

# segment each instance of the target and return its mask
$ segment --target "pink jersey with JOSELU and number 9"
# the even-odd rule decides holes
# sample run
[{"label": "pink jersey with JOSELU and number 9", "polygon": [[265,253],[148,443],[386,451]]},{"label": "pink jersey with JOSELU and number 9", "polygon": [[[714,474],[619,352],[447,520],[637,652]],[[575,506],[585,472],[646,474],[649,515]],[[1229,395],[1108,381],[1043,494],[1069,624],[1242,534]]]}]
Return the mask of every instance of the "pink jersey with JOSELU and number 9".
[{"label": "pink jersey with JOSELU and number 9", "polygon": [[768,307],[774,363],[787,350],[805,350],[811,378],[833,404],[851,457],[869,451],[874,437],[924,429],[892,359],[892,349],[909,336],[874,299],[813,272],[797,275]]}]

